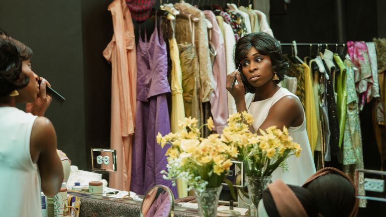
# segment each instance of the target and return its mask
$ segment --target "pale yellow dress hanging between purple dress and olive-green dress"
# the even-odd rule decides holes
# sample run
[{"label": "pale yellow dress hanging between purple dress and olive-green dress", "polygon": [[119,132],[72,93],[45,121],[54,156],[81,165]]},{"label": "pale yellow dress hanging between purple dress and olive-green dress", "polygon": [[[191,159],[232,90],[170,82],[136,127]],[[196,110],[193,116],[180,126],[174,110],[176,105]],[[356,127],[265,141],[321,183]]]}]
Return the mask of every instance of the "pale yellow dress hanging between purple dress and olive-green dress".
[{"label": "pale yellow dress hanging between purple dress and olive-green dress", "polygon": [[[182,97],[182,70],[181,62],[179,61],[179,51],[177,41],[173,37],[169,40],[170,59],[172,62],[171,68],[171,117],[170,127],[171,132],[178,131],[178,121],[185,119],[185,107]],[[187,196],[187,183],[181,179],[177,180],[178,197]]]}]

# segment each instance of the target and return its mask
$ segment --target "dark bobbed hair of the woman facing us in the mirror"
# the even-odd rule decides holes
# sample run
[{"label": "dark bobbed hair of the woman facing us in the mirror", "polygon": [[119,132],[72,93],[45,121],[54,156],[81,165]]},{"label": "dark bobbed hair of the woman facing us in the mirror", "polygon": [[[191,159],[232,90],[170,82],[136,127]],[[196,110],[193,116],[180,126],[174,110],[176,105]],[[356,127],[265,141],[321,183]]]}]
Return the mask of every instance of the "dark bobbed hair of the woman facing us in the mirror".
[{"label": "dark bobbed hair of the woman facing us in the mirror", "polygon": [[[238,66],[240,64],[252,47],[256,48],[260,54],[268,55],[271,58],[272,69],[279,77],[276,83],[283,80],[284,74],[289,68],[288,62],[284,59],[281,52],[280,43],[264,32],[249,33],[237,41],[235,47],[235,65]],[[242,72],[240,68],[239,71]],[[255,92],[255,87],[247,81],[243,73],[241,73],[241,80],[244,83],[246,92]]]}]

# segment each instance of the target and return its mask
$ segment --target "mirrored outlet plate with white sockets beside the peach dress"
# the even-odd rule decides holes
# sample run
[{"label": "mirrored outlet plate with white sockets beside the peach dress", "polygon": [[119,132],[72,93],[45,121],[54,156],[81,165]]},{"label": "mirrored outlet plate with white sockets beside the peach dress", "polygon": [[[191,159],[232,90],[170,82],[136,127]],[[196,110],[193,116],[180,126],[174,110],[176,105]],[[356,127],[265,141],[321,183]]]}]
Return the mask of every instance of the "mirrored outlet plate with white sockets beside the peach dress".
[{"label": "mirrored outlet plate with white sockets beside the peach dress", "polygon": [[91,149],[93,171],[117,171],[117,151],[114,149]]}]

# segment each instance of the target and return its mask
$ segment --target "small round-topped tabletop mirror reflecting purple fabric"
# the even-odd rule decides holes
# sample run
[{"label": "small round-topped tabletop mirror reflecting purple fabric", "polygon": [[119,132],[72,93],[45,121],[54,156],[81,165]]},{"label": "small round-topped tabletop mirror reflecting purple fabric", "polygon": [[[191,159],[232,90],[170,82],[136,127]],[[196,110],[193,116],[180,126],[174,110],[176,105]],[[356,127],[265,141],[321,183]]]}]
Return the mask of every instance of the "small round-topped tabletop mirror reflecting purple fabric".
[{"label": "small round-topped tabletop mirror reflecting purple fabric", "polygon": [[141,205],[141,217],[173,217],[174,196],[170,188],[155,185],[148,190]]}]

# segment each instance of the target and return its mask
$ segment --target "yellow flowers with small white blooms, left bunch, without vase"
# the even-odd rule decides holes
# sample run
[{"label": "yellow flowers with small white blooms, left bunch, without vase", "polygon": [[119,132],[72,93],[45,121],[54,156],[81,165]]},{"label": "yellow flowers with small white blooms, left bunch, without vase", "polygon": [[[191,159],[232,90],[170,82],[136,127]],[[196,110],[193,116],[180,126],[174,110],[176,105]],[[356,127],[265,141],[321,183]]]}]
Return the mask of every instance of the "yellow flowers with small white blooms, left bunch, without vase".
[{"label": "yellow flowers with small white blooms, left bunch, without vase", "polygon": [[157,135],[157,143],[164,147],[167,143],[167,171],[163,178],[171,180],[183,179],[188,184],[188,190],[195,188],[203,191],[206,188],[219,187],[226,172],[232,165],[231,159],[237,157],[238,151],[231,143],[224,143],[218,134],[202,138],[201,128],[214,128],[212,118],[208,124],[198,128],[197,119],[185,118],[180,122],[179,132]]}]

